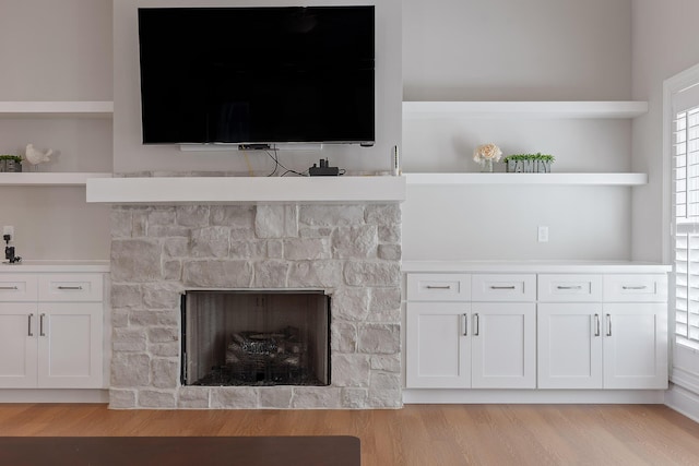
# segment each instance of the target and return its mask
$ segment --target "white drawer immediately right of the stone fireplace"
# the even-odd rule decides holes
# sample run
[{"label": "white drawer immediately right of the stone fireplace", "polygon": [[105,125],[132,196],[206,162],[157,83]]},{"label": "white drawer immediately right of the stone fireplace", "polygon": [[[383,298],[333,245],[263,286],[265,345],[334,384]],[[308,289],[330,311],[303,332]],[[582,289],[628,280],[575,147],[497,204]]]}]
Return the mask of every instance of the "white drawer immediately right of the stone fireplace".
[{"label": "white drawer immediately right of the stone fireplace", "polygon": [[470,296],[466,274],[407,274],[408,301],[466,301]]}]

